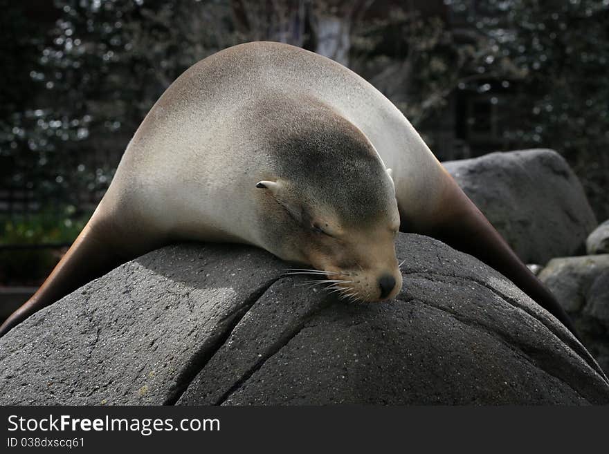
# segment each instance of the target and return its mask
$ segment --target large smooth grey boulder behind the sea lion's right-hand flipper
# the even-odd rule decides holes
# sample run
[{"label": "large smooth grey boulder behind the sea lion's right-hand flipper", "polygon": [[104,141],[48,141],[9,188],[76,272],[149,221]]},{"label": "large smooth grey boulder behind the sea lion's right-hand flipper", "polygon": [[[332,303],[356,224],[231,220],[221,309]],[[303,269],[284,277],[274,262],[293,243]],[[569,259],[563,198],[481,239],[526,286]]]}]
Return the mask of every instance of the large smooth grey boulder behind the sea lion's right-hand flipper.
[{"label": "large smooth grey boulder behind the sea lion's right-hand flipper", "polygon": [[597,226],[581,183],[556,151],[490,153],[443,164],[525,263],[583,252]]}]

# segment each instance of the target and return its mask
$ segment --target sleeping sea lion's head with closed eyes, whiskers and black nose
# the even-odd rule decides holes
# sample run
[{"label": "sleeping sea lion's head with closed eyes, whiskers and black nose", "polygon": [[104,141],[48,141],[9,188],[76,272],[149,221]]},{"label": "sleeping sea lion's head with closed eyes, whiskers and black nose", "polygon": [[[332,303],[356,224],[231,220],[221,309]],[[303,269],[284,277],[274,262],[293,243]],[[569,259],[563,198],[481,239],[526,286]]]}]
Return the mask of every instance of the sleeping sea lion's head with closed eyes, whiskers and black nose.
[{"label": "sleeping sea lion's head with closed eyes, whiskers and black nose", "polygon": [[274,175],[255,183],[260,228],[267,250],[318,270],[339,294],[382,301],[402,285],[394,184],[374,146],[345,123],[319,122],[274,144]]}]

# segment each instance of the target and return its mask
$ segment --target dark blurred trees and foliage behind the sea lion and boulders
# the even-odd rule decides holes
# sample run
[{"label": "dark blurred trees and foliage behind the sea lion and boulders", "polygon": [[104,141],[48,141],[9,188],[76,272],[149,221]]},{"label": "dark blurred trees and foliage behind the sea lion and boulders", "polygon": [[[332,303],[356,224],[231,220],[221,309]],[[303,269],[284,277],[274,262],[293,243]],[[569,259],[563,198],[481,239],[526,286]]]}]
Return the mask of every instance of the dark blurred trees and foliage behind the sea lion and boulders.
[{"label": "dark blurred trees and foliage behind the sea lion and boulders", "polygon": [[282,41],[348,66],[440,160],[556,149],[597,218],[609,218],[609,0],[0,6],[0,287],[44,280],[165,88],[244,41]]}]

